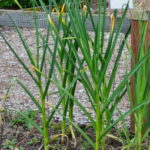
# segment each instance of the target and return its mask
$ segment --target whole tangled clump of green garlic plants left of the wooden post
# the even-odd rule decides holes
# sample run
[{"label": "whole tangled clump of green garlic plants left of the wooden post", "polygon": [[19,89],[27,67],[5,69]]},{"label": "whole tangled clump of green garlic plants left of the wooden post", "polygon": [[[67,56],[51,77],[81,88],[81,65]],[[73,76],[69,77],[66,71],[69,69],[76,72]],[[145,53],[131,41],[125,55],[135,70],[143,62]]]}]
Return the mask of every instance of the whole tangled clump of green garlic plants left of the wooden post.
[{"label": "whole tangled clump of green garlic plants left of the wooden post", "polygon": [[[33,0],[33,2],[35,1]],[[149,103],[149,100],[139,103],[128,112],[121,115],[116,121],[111,122],[114,110],[117,108],[118,103],[122,100],[122,97],[127,91],[126,84],[129,82],[130,77],[134,75],[148,60],[150,57],[150,52],[148,51],[147,54],[139,60],[139,62],[132,68],[132,70],[126,74],[124,79],[120,81],[116,89],[112,91],[118,64],[126,44],[126,40],[130,33],[129,28],[123,39],[120,40],[119,35],[124,23],[124,19],[126,17],[128,5],[126,6],[122,17],[119,20],[117,27],[115,26],[117,11],[114,11],[114,14],[112,15],[109,40],[107,43],[105,43],[105,25],[107,17],[106,0],[104,0],[104,7],[102,7],[102,0],[98,0],[97,22],[94,20],[94,15],[91,12],[91,5],[88,0],[86,0],[84,11],[81,9],[82,6],[80,0],[65,0],[64,6],[66,14],[63,14],[63,10],[59,12],[58,10],[60,9],[57,8],[56,1],[52,0],[51,3],[55,5],[58,14],[57,24],[54,24],[51,9],[48,10],[42,0],[39,0],[39,2],[47,14],[46,21],[48,27],[47,35],[46,37],[43,37],[39,32],[38,22],[35,19],[36,55],[32,53],[22,33],[18,27],[16,27],[34,73],[30,71],[30,69],[18,56],[9,42],[1,34],[10,50],[13,52],[25,71],[30,75],[33,82],[35,82],[39,88],[40,102],[33,96],[31,91],[29,91],[21,81],[17,80],[17,82],[22,86],[22,88],[35,103],[39,111],[42,113],[41,120],[43,126],[40,128],[35,122],[31,120],[29,121],[31,121],[31,123],[43,135],[44,149],[48,150],[48,125],[50,124],[54,113],[58,111],[58,107],[62,104],[62,112],[59,112],[63,117],[61,134],[62,137],[65,137],[66,124],[68,122],[74,140],[75,135],[73,132],[73,127],[75,127],[84,136],[89,144],[91,144],[93,149],[104,150],[106,149],[106,138],[107,136],[110,136],[109,131],[131,112],[139,110],[139,108],[144,107]],[[34,14],[36,15],[35,11]],[[87,30],[87,20],[92,25],[94,38],[90,36]],[[53,49],[48,44],[50,35],[52,35],[54,40]],[[111,75],[108,79],[106,77],[107,70],[110,65],[111,58],[113,57],[113,53],[116,50],[118,40],[121,44],[119,45],[119,51],[115,63],[112,66]],[[42,46],[40,41],[42,41]],[[104,44],[107,45],[106,49],[104,49]],[[42,48],[42,50],[40,48]],[[82,57],[80,57],[79,51],[81,52]],[[34,55],[36,57],[34,57]],[[47,57],[49,55],[51,57]],[[44,63],[46,61],[49,62],[50,66],[48,74],[43,72]],[[60,78],[57,77],[56,72],[54,72],[54,68],[57,68]],[[43,85],[42,77],[46,79],[46,86]],[[93,118],[85,106],[80,103],[80,100],[74,97],[77,81],[82,84],[82,87],[87,92],[88,102],[91,103],[91,107],[96,118]],[[57,86],[57,93],[60,95],[60,100],[55,106],[51,106],[50,103],[46,102],[46,96],[48,94],[48,89],[51,83]],[[74,103],[89,119],[89,122],[94,129],[95,139],[91,139],[86,134],[86,132],[84,132],[73,121]],[[53,108],[50,116],[48,116],[46,113],[47,104]],[[67,114],[69,114],[69,117],[67,117]],[[64,141],[63,138],[62,141]]]}]

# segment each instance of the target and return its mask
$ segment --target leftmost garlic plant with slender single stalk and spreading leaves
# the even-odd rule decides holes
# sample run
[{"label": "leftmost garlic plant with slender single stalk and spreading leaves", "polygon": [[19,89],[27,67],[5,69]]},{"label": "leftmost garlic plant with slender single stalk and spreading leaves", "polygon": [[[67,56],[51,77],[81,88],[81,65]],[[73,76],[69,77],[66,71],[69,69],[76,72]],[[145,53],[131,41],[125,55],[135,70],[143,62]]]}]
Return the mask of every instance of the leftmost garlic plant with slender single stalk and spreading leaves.
[{"label": "leftmost garlic plant with slender single stalk and spreading leaves", "polygon": [[[35,8],[35,4],[36,2],[33,1],[33,6]],[[24,38],[22,32],[20,31],[20,29],[17,27],[17,25],[15,24],[15,22],[13,22],[13,19],[10,18],[10,20],[14,23],[15,25],[15,29],[18,33],[18,36],[22,42],[22,45],[24,47],[24,50],[26,52],[26,55],[28,57],[28,60],[30,62],[30,66],[28,67],[28,65],[26,64],[26,62],[23,62],[23,60],[21,59],[21,57],[17,54],[17,52],[15,51],[15,49],[11,46],[11,44],[7,41],[7,39],[5,38],[5,36],[0,33],[0,35],[2,36],[2,38],[4,39],[4,41],[6,42],[7,46],[10,48],[10,50],[12,51],[12,53],[14,54],[14,56],[18,59],[19,63],[22,65],[22,67],[24,68],[24,70],[29,74],[29,76],[31,77],[32,81],[36,84],[37,88],[38,88],[38,92],[39,92],[39,97],[36,98],[34,97],[34,94],[28,89],[28,87],[26,87],[24,85],[24,83],[22,83],[20,80],[16,79],[16,82],[25,90],[25,92],[29,95],[29,97],[31,98],[31,100],[34,102],[34,104],[36,105],[37,109],[39,110],[39,112],[41,113],[41,121],[42,121],[42,128],[35,123],[33,120],[27,118],[27,116],[24,116],[40,133],[41,135],[43,135],[43,143],[44,143],[44,149],[48,150],[49,149],[49,135],[48,135],[48,126],[49,123],[54,115],[54,112],[56,111],[56,109],[58,108],[58,106],[60,105],[62,98],[60,98],[60,100],[58,100],[58,103],[56,104],[56,106],[54,106],[50,115],[48,115],[47,113],[47,95],[49,95],[49,87],[51,84],[51,78],[53,76],[53,72],[54,72],[54,66],[56,64],[56,54],[58,53],[58,38],[55,38],[54,41],[54,48],[50,48],[48,46],[49,43],[49,38],[50,38],[50,33],[51,33],[51,25],[48,24],[47,27],[47,33],[46,36],[42,36],[42,34],[40,33],[39,27],[38,27],[38,22],[36,20],[36,11],[34,9],[34,15],[35,15],[35,20],[34,20],[34,27],[36,30],[36,34],[35,34],[35,38],[36,38],[36,52],[33,52],[30,48],[30,46],[28,45],[28,43],[26,42],[26,39]],[[58,28],[61,24],[61,21],[58,21]],[[43,76],[42,73],[44,72],[44,64],[46,63],[46,56],[49,54],[50,58],[49,58],[49,63],[50,63],[50,67],[49,67],[49,71],[48,74],[46,74],[44,77],[46,80],[46,84],[45,82],[43,82]],[[32,68],[32,70],[31,70]],[[69,90],[69,89],[68,89]],[[21,114],[23,115],[23,114]]]}]

